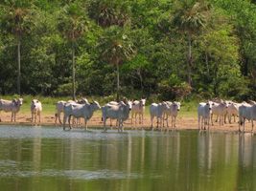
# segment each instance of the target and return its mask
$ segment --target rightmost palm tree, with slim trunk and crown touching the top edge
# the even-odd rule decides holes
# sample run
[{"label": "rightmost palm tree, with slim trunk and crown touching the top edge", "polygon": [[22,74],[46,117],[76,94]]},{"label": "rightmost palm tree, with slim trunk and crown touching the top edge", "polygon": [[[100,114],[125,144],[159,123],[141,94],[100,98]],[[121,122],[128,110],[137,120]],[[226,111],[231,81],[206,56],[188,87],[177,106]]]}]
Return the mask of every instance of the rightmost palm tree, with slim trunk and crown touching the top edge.
[{"label": "rightmost palm tree, with slim trunk and crown touching the top edge", "polygon": [[198,34],[204,28],[207,15],[210,10],[209,4],[204,1],[185,1],[181,9],[176,11],[174,23],[178,29],[185,33],[188,41],[188,54],[187,54],[187,70],[188,70],[188,83],[192,85],[192,42],[193,36]]}]

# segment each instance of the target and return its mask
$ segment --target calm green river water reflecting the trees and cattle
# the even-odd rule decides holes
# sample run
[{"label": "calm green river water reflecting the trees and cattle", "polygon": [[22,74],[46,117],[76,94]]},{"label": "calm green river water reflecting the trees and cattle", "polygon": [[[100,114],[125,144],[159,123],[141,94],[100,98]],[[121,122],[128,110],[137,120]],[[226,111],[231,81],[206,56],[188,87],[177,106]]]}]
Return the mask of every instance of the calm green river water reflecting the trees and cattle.
[{"label": "calm green river water reflecting the trees and cattle", "polygon": [[0,126],[0,190],[256,190],[251,134]]}]

